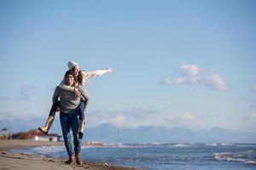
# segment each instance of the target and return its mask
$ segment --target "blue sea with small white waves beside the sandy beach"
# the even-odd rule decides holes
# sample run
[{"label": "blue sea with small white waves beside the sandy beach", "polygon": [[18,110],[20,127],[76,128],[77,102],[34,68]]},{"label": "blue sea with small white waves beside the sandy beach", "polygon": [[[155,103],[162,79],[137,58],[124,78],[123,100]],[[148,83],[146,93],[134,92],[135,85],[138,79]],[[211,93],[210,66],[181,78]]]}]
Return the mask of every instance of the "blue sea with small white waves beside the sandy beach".
[{"label": "blue sea with small white waves beside the sandy beach", "polygon": [[[64,146],[13,150],[67,159]],[[256,144],[103,144],[82,146],[84,160],[148,170],[256,170]]]}]

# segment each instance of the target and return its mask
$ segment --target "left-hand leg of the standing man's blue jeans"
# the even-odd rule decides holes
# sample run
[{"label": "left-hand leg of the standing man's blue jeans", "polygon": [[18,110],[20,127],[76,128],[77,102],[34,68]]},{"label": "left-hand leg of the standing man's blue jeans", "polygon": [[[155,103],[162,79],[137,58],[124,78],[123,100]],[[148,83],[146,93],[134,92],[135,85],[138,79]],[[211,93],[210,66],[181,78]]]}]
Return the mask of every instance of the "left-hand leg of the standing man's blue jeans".
[{"label": "left-hand leg of the standing man's blue jeans", "polygon": [[65,113],[60,114],[61,121],[61,130],[64,139],[64,144],[66,146],[68,156],[73,156],[73,147],[72,147],[72,136],[70,129],[72,127],[72,116],[69,116]]}]

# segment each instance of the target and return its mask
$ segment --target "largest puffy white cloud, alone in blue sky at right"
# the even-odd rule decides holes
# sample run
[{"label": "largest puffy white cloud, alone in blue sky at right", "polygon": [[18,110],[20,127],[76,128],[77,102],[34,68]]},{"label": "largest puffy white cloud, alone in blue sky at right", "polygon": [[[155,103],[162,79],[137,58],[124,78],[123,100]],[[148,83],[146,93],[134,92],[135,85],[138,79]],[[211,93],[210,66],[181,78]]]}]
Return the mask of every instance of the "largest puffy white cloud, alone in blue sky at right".
[{"label": "largest puffy white cloud, alone in blue sky at right", "polygon": [[189,84],[197,86],[205,86],[215,90],[228,90],[230,89],[224,78],[217,72],[199,67],[198,65],[182,65],[180,67],[181,77],[176,80],[165,79],[160,84],[173,85],[173,84]]}]

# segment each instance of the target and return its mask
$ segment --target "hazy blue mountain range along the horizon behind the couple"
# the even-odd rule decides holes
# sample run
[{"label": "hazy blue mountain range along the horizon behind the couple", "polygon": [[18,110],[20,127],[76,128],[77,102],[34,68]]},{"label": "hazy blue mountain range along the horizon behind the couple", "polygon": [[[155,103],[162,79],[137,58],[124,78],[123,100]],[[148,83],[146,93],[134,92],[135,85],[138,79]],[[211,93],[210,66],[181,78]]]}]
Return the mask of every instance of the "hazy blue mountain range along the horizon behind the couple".
[{"label": "hazy blue mountain range along the horizon behind the couple", "polygon": [[[17,133],[38,128],[45,120],[0,120],[0,128],[6,127]],[[61,134],[59,118],[55,118],[50,133]],[[210,130],[191,131],[186,127],[144,126],[135,129],[118,128],[110,123],[98,127],[85,128],[84,141],[102,141],[106,143],[256,143],[256,133],[238,133],[212,127]]]}]

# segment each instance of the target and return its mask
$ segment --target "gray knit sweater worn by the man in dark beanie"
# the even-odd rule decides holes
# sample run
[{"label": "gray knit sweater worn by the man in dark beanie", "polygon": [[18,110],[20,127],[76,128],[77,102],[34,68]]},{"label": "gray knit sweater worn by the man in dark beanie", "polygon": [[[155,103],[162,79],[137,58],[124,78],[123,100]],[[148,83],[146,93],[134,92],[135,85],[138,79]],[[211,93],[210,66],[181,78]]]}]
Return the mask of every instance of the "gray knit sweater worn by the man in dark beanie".
[{"label": "gray knit sweater worn by the man in dark beanie", "polygon": [[[80,93],[85,99],[85,107],[87,107],[89,98],[90,98],[87,90],[81,85],[79,85],[77,88],[80,89]],[[59,97],[60,97],[61,112],[65,112],[69,114],[78,112],[81,96],[75,97],[73,92],[62,89],[60,87],[56,87],[55,93],[52,98],[53,102],[55,103]]]}]

